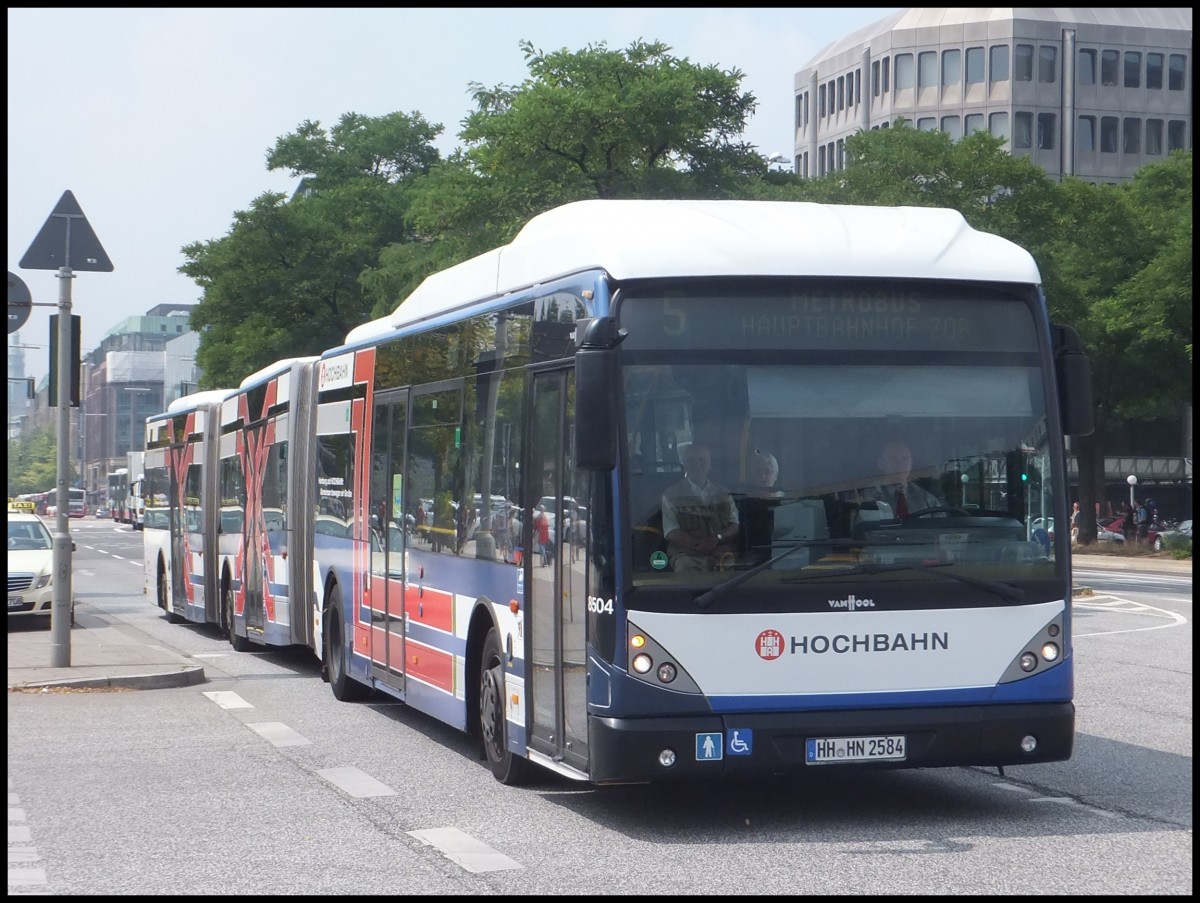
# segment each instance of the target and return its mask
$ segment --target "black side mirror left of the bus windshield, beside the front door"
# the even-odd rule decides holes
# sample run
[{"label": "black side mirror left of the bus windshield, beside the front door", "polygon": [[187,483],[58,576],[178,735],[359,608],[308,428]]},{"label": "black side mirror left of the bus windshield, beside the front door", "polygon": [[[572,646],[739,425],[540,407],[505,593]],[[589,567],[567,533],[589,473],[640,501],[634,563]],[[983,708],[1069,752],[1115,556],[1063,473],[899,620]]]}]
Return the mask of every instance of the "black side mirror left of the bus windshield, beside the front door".
[{"label": "black side mirror left of the bus windshield, beside the front door", "polygon": [[625,335],[612,317],[584,319],[575,329],[575,466],[581,471],[617,466],[618,346]]}]

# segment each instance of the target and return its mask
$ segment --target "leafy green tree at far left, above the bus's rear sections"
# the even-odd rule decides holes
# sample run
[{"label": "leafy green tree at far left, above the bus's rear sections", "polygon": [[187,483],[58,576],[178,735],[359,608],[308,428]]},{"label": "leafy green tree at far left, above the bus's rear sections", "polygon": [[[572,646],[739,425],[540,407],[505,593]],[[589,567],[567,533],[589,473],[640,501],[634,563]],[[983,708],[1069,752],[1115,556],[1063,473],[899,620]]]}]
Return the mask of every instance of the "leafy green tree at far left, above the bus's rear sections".
[{"label": "leafy green tree at far left, above the bus's rear sections", "polygon": [[203,289],[191,325],[204,388],[236,385],[276,360],[318,354],[371,317],[364,270],[406,226],[407,184],[438,159],[440,133],[419,114],[306,121],[280,138],[269,169],[304,175],[288,199],[268,192],[229,233],[185,246],[180,271]]}]

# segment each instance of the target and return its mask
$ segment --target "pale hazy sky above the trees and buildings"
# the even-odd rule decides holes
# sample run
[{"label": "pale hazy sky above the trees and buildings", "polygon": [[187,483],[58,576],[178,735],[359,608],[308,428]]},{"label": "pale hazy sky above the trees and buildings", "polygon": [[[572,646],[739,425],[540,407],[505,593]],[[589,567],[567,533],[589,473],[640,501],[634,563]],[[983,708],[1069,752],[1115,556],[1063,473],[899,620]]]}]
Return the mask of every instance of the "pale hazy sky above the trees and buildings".
[{"label": "pale hazy sky above the trees and buildings", "polygon": [[745,140],[790,160],[794,73],[900,8],[8,7],[8,271],[49,305],[10,348],[26,346],[25,375],[46,375],[59,280],[19,264],[66,191],[114,267],[71,281],[88,352],[126,317],[200,300],[181,249],[226,235],[263,192],[295,189],[266,153],[305,120],[419,113],[444,126],[434,143],[449,154],[470,83],[529,76],[522,40],[544,52],[660,41],[739,70],[758,101]]}]

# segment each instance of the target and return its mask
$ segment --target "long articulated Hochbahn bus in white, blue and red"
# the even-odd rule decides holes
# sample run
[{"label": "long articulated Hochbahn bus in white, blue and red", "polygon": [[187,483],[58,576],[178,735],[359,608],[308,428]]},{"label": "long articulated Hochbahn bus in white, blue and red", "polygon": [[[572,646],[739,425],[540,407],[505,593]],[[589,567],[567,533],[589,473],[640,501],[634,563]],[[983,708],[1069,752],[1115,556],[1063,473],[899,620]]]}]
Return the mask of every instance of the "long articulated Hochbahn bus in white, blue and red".
[{"label": "long articulated Hochbahn bus in white, blue and red", "polygon": [[[1043,525],[1090,430],[1032,258],[955,211],[586,201],[150,418],[146,580],[239,650],[307,646],[338,699],[473,732],[506,783],[1062,760],[1069,546]],[[888,437],[942,504],[865,501]],[[692,443],[738,540],[677,570]]]}]

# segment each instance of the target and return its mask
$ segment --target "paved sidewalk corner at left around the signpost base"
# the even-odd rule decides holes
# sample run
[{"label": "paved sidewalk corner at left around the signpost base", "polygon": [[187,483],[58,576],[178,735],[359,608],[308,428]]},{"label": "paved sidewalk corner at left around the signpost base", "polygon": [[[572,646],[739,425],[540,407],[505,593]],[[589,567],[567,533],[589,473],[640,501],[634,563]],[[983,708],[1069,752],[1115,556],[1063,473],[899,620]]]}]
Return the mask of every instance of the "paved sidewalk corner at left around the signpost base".
[{"label": "paved sidewalk corner at left around the signpost base", "polygon": [[[16,618],[13,618],[16,620]],[[37,687],[160,689],[204,683],[204,668],[163,646],[137,628],[109,620],[76,600],[70,662],[53,668],[53,630],[38,623],[8,623],[8,689]]]}]

